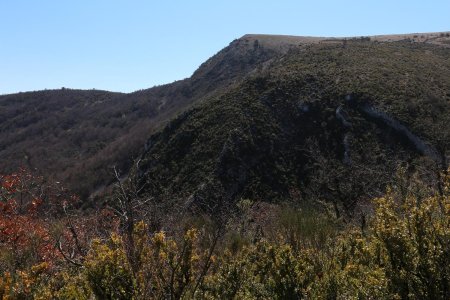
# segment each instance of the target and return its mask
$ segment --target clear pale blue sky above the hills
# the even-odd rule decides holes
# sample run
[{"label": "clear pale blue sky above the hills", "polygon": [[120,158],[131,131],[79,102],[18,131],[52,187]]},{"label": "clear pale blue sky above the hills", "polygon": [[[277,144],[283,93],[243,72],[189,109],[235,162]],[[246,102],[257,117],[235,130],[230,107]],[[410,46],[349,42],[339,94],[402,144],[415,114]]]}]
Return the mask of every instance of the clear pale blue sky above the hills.
[{"label": "clear pale blue sky above the hills", "polygon": [[130,92],[190,76],[246,33],[448,31],[449,13],[449,0],[0,0],[0,94]]}]

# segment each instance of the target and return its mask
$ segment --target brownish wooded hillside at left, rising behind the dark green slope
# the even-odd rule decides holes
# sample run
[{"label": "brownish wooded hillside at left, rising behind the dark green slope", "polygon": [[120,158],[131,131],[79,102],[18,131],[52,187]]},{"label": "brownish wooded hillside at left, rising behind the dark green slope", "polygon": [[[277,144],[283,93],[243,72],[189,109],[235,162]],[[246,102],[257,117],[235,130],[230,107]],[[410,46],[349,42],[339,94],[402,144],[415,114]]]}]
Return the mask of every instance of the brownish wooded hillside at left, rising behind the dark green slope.
[{"label": "brownish wooded hillside at left, rising behind the dark green slope", "polygon": [[126,173],[146,139],[192,103],[219,94],[286,51],[236,40],[192,77],[118,94],[62,88],[0,96],[0,169],[36,170],[87,198]]}]

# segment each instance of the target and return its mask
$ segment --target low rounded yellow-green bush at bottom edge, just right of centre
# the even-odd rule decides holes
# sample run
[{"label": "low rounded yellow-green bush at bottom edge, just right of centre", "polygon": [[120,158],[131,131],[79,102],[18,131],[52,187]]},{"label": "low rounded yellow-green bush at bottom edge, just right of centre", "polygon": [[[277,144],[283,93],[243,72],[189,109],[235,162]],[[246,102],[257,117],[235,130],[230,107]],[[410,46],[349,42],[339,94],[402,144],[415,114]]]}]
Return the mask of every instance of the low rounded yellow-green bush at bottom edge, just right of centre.
[{"label": "low rounded yellow-green bush at bottom edge, just right of centre", "polygon": [[218,262],[207,279],[206,298],[213,299],[301,299],[315,277],[309,252],[295,255],[288,245],[267,241],[231,253]]}]

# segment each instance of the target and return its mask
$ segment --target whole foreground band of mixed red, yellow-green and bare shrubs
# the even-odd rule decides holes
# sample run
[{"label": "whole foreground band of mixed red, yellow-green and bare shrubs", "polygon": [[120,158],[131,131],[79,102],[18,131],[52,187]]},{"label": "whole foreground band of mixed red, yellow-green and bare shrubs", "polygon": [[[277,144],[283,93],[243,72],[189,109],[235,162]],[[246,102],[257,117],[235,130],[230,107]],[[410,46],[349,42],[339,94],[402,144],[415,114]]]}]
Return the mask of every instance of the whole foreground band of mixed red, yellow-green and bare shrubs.
[{"label": "whole foreground band of mixed red, yellow-green and bare shrubs", "polygon": [[178,215],[159,229],[139,213],[152,201],[133,194],[131,179],[118,184],[115,206],[81,213],[57,184],[3,175],[0,295],[448,299],[450,178],[435,189],[399,174],[364,222],[243,199],[226,218]]}]

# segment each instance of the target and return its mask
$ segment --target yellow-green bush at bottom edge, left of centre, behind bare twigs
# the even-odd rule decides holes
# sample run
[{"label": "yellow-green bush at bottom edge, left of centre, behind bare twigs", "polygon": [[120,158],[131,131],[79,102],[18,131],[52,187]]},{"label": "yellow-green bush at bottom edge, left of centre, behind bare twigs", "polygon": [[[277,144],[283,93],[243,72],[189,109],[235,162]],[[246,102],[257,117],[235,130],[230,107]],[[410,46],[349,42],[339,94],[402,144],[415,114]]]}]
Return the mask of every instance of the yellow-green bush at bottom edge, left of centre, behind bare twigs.
[{"label": "yellow-green bush at bottom edge, left of centre, behind bare twigs", "polygon": [[193,297],[209,261],[198,244],[198,231],[188,230],[177,243],[163,232],[150,238],[141,222],[133,236],[134,253],[128,254],[127,241],[120,236],[94,241],[84,265],[93,294],[99,299]]}]

